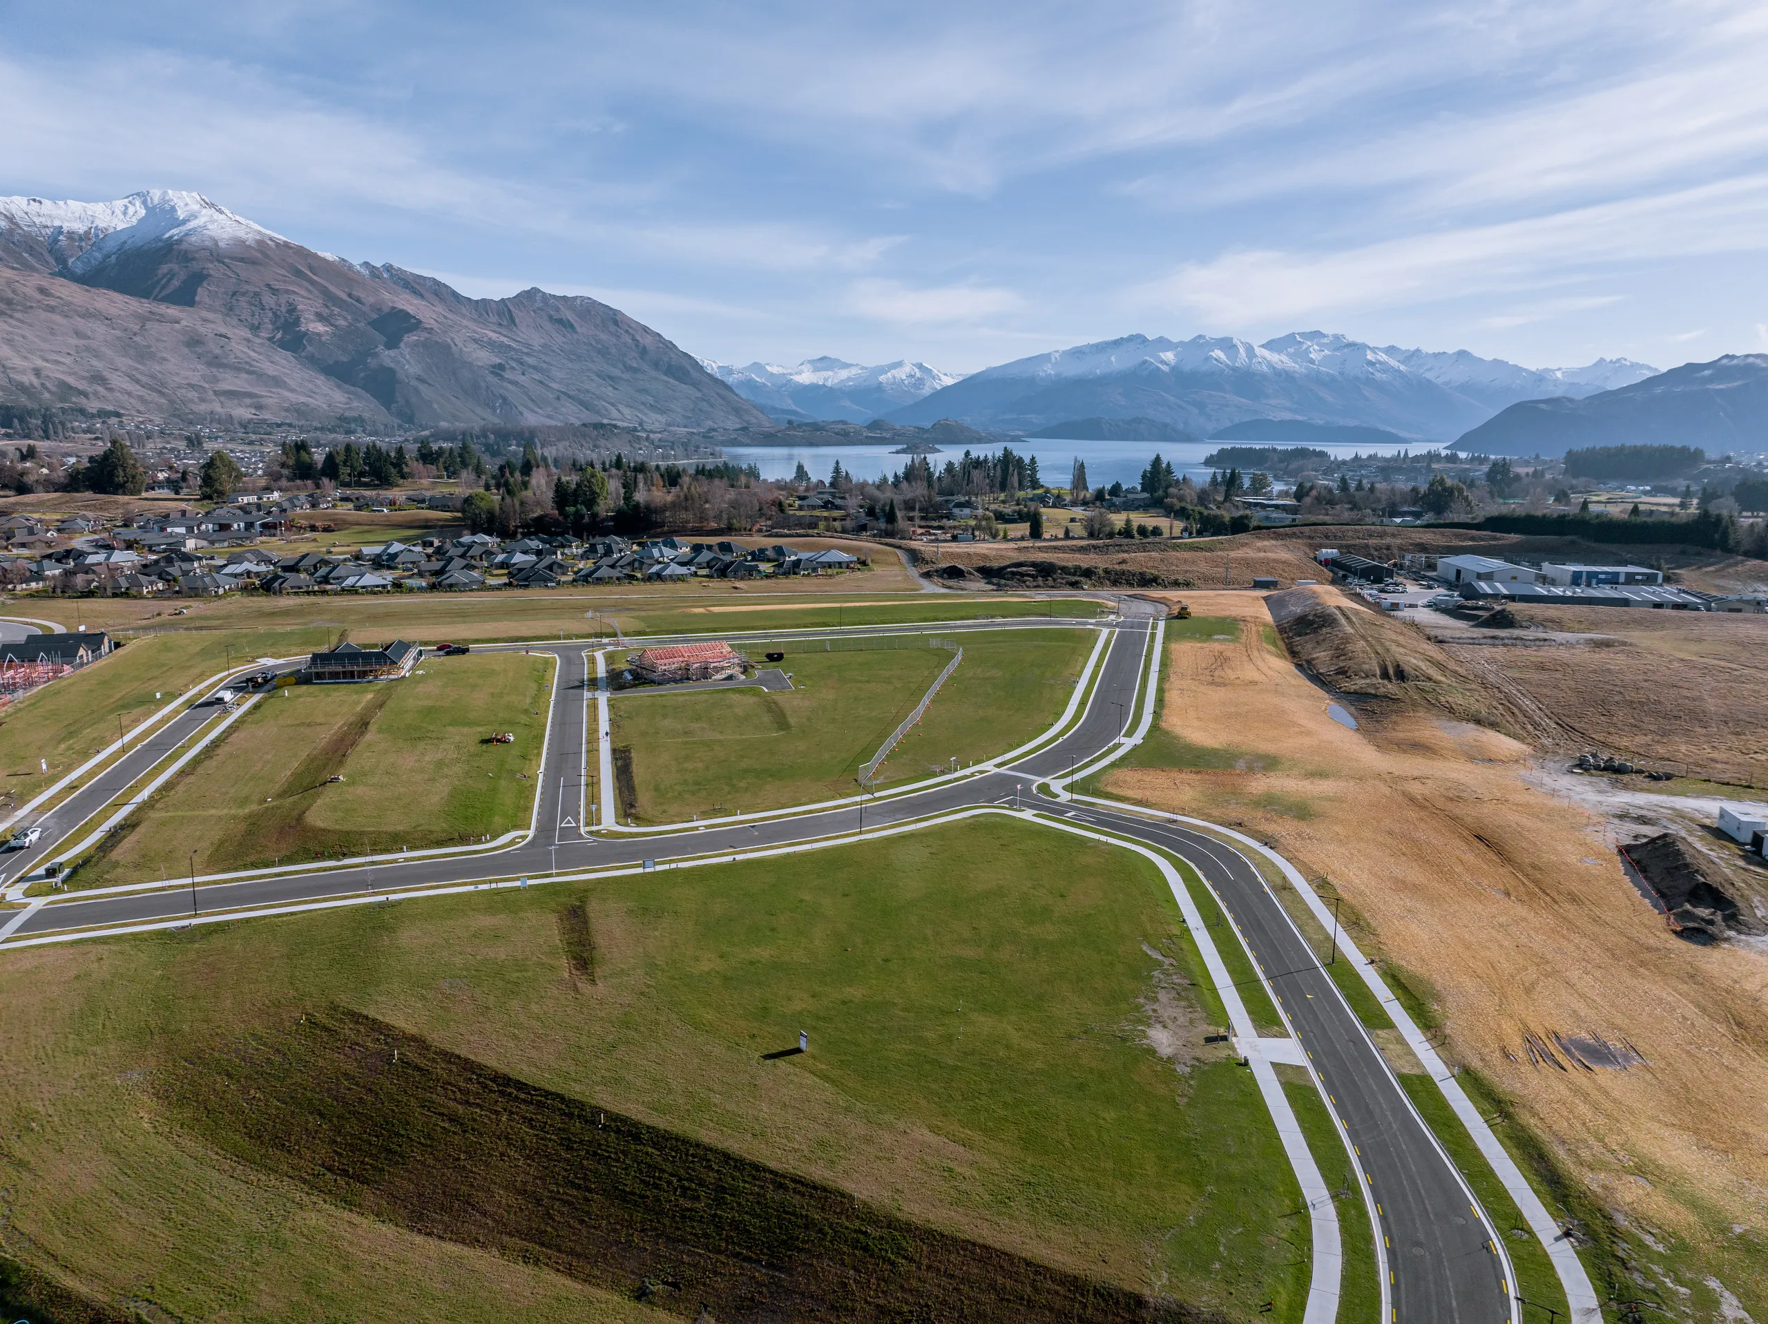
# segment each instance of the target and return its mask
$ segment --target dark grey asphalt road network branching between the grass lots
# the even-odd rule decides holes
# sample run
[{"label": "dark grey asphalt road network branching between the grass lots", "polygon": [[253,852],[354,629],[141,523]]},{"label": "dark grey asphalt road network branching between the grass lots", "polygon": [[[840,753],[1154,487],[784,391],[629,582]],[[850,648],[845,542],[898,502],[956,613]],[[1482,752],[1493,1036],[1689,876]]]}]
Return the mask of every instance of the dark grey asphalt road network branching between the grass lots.
[{"label": "dark grey asphalt road network branching between the grass lots", "polygon": [[[941,624],[939,631],[1001,628],[1002,624]],[[1338,995],[1319,958],[1291,926],[1282,903],[1259,875],[1220,841],[1185,827],[1167,826],[1133,813],[1057,803],[1034,795],[1040,778],[1057,776],[1109,750],[1135,719],[1135,700],[1151,642],[1151,622],[1126,619],[1110,626],[1110,647],[1101,663],[1098,689],[1080,719],[1061,739],[1018,760],[1011,769],[965,778],[923,792],[875,799],[796,817],[709,826],[698,831],[656,836],[585,838],[580,803],[587,776],[585,698],[594,686],[594,663],[585,665],[585,643],[555,643],[534,651],[559,658],[545,772],[537,794],[536,827],[529,841],[493,856],[414,859],[332,873],[295,873],[196,887],[200,910],[274,907],[331,896],[394,891],[401,887],[472,882],[488,877],[545,875],[559,870],[635,864],[702,854],[741,854],[760,847],[787,845],[819,836],[850,833],[861,826],[882,827],[976,804],[1011,804],[1015,794],[1027,808],[1110,831],[1183,856],[1223,898],[1239,923],[1259,963],[1268,972],[1296,1038],[1312,1054],[1315,1068],[1361,1151],[1381,1207],[1383,1229],[1391,1243],[1393,1319],[1455,1324],[1503,1324],[1512,1317],[1501,1282],[1499,1259],[1489,1246],[1487,1229],[1473,1209],[1453,1165],[1413,1114],[1404,1091],[1376,1052],[1351,1008]],[[813,633],[813,631],[804,631]],[[868,633],[891,633],[879,628]],[[771,635],[792,638],[799,635]],[[734,640],[737,636],[732,636]],[[446,665],[437,659],[433,665]],[[170,739],[168,732],[168,739]],[[145,755],[143,755],[145,757]],[[118,772],[118,776],[124,776]],[[97,794],[97,792],[94,792]],[[568,826],[566,818],[573,822]],[[120,926],[171,921],[191,914],[187,891],[150,891],[81,900],[58,900],[30,914],[14,937],[67,928]],[[1328,1160],[1328,1172],[1335,1163]]]}]

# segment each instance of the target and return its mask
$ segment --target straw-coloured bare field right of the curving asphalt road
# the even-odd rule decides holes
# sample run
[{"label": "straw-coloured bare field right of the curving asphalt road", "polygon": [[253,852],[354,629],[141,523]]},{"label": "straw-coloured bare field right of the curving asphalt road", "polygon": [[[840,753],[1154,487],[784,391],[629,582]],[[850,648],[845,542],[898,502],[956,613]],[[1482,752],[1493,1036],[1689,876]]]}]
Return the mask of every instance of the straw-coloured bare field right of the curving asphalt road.
[{"label": "straw-coloured bare field right of the curving asphalt road", "polygon": [[[1763,1317],[1763,955],[1678,940],[1600,824],[1524,780],[1526,746],[1404,700],[1360,704],[1361,730],[1340,727],[1252,628],[1262,599],[1209,603],[1246,629],[1169,649],[1162,725],[1185,758],[1105,785],[1255,833],[1344,900],[1345,928],[1441,1022],[1448,1061],[1489,1082],[1482,1110],[1549,1206],[1593,1239],[1598,1292],[1639,1292],[1625,1257],[1650,1266],[1644,1299],[1685,1289],[1717,1319],[1711,1278]],[[1650,1068],[1529,1066],[1522,1034],[1551,1031],[1625,1038]]]}]

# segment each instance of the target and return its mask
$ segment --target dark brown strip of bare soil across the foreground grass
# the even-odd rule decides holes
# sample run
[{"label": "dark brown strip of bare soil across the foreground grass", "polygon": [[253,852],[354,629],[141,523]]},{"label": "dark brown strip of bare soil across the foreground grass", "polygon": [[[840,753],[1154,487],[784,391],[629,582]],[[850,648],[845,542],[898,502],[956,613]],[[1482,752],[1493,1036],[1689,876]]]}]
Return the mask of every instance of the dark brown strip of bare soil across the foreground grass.
[{"label": "dark brown strip of bare soil across the foreground grass", "polygon": [[1222,1320],[935,1232],[352,1011],[191,1052],[156,1085],[251,1167],[684,1319]]}]

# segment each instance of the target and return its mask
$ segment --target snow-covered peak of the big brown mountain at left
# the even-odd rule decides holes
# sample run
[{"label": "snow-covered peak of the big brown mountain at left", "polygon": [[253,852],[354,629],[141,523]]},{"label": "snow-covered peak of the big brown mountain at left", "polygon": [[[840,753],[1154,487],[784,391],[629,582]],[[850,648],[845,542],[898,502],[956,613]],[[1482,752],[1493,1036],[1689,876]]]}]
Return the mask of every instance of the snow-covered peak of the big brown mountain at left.
[{"label": "snow-covered peak of the big brown mountain at left", "polygon": [[55,265],[80,276],[131,247],[164,242],[281,240],[200,193],[143,189],[117,202],[0,198],[0,239],[35,240]]}]

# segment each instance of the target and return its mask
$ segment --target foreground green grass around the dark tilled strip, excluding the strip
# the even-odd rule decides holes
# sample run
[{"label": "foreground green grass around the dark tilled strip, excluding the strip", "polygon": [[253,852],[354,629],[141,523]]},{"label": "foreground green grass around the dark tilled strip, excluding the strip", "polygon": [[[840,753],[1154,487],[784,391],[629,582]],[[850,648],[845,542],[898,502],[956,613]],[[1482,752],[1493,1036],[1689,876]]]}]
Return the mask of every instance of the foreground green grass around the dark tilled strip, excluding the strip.
[{"label": "foreground green grass around the dark tilled strip, excluding the strip", "polygon": [[[923,1225],[1298,1320],[1299,1193],[1250,1073],[1200,1046],[1200,978],[1144,861],[988,820],[0,953],[7,1250],[187,1320],[663,1319],[325,1204],[161,1101],[193,1054],[348,1008]],[[806,1055],[762,1061],[799,1029]]]}]

